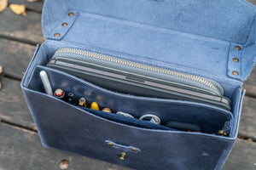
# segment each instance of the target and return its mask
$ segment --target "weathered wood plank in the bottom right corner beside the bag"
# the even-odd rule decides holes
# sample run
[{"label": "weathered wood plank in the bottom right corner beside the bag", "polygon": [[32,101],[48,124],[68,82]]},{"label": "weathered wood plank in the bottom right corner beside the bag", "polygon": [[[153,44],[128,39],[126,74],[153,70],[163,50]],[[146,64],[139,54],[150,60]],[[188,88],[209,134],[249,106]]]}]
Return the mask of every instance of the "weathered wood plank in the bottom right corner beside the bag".
[{"label": "weathered wood plank in the bottom right corner beside the bag", "polygon": [[256,169],[256,143],[237,139],[223,170]]}]

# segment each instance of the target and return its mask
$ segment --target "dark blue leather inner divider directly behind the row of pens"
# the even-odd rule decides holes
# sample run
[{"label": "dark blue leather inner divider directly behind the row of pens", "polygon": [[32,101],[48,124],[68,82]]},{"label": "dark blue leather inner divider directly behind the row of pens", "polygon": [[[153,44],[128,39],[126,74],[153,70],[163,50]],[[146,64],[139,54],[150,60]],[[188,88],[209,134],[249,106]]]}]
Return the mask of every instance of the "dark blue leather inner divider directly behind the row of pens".
[{"label": "dark blue leather inner divider directly behind the row of pens", "polygon": [[[78,77],[73,77],[66,72],[40,65],[33,71],[28,88],[44,93],[43,84],[39,77],[39,71],[42,70],[47,72],[53,90],[61,88],[66,93],[72,92],[75,96],[75,100],[84,97],[88,104],[96,102],[100,106],[100,109],[108,107],[113,113],[117,111],[129,113],[136,118],[134,122],[137,122],[137,120],[145,114],[153,114],[160,117],[160,125],[165,126],[167,122],[171,121],[195,124],[201,127],[202,133],[218,133],[218,130],[221,130],[223,127],[230,130],[232,125],[233,116],[230,111],[225,111],[224,109],[212,105],[204,105],[184,100],[157,99],[119,94],[109,91],[108,89],[100,88]],[[92,112],[96,115],[101,113],[97,111]],[[113,114],[111,116],[117,116],[117,119],[114,120],[113,117],[105,118],[119,122],[118,115]],[[132,120],[128,121],[130,121],[130,125],[133,126],[144,126],[142,125],[144,121],[137,122],[137,125],[133,123]]]}]

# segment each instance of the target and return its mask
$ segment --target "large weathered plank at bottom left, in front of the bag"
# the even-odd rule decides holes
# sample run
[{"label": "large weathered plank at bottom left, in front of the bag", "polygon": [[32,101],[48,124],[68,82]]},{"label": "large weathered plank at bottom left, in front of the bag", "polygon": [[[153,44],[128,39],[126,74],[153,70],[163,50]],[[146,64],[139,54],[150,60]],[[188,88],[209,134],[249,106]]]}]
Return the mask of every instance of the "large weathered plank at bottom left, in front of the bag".
[{"label": "large weathered plank at bottom left, in front of the bag", "polygon": [[59,162],[67,160],[68,169],[128,170],[105,161],[78,156],[61,150],[44,148],[33,133],[0,123],[0,169],[59,170]]}]

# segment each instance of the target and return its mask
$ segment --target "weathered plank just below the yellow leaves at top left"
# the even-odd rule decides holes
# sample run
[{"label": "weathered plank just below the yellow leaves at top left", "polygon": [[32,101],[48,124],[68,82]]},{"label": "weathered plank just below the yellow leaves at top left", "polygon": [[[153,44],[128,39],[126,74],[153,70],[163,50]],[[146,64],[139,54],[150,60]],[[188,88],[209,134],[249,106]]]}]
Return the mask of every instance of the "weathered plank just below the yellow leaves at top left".
[{"label": "weathered plank just below the yellow leaves at top left", "polygon": [[0,37],[11,37],[31,43],[44,42],[41,14],[27,11],[27,15],[22,16],[7,8],[0,13],[0,18]]}]

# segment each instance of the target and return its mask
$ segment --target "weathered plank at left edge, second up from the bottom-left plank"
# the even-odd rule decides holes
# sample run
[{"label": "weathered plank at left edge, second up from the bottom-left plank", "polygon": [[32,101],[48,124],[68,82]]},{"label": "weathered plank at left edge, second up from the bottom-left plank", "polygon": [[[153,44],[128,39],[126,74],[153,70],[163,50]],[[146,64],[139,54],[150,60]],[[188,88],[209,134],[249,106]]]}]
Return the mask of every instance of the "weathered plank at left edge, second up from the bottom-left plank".
[{"label": "weathered plank at left edge, second up from the bottom-left plank", "polygon": [[0,118],[23,127],[35,127],[21,93],[20,82],[2,77],[0,90]]}]

